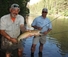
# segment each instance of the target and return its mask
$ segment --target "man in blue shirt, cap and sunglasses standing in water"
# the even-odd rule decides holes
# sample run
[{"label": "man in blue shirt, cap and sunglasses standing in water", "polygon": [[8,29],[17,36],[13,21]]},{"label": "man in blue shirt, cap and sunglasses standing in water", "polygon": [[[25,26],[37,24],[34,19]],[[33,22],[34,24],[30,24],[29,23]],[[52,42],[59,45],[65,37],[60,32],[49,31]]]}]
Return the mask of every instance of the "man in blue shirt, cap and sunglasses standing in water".
[{"label": "man in blue shirt, cap and sunglasses standing in water", "polygon": [[[46,17],[47,13],[48,13],[47,8],[43,8],[42,16],[35,18],[32,23],[32,27],[35,30],[41,30],[41,32],[44,33],[45,35],[52,29],[51,21]],[[40,42],[39,57],[42,57],[43,44],[45,44],[46,38],[42,38],[41,36],[33,38],[33,44],[31,47],[31,57],[34,57],[35,46],[38,43],[38,41]]]}]

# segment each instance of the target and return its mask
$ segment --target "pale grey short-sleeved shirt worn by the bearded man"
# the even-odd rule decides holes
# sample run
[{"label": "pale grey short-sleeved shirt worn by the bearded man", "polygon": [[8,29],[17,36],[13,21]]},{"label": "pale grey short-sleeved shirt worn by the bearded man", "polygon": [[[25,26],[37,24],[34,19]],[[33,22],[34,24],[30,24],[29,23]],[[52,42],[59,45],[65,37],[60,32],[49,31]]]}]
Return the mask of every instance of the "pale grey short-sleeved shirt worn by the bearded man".
[{"label": "pale grey short-sleeved shirt worn by the bearded man", "polygon": [[12,38],[17,38],[20,34],[20,25],[24,25],[24,18],[21,15],[17,15],[15,22],[10,17],[10,14],[4,15],[0,19],[0,30],[5,32]]}]

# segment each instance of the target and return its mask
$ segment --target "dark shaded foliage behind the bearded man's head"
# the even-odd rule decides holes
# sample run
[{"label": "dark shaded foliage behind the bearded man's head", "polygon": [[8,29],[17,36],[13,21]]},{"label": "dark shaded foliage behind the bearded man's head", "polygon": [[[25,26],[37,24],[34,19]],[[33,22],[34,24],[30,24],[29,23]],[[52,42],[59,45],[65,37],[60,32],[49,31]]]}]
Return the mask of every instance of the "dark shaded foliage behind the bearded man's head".
[{"label": "dark shaded foliage behind the bearded man's head", "polygon": [[29,13],[29,9],[26,8],[27,2],[30,0],[0,0],[0,17],[9,13],[11,4],[17,3],[20,6],[21,15]]}]

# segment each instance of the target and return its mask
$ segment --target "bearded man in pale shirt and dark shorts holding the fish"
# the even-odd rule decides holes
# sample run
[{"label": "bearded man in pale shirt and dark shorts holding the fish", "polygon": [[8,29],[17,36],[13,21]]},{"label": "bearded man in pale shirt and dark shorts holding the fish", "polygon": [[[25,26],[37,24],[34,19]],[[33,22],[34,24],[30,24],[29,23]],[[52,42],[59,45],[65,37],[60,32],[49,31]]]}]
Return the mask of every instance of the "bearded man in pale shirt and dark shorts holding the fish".
[{"label": "bearded man in pale shirt and dark shorts holding the fish", "polygon": [[[22,57],[23,46],[22,43],[17,43],[17,37],[20,35],[20,30],[26,30],[24,26],[24,18],[19,15],[20,7],[18,4],[12,4],[10,14],[4,15],[0,20],[0,32],[2,37],[1,48],[6,51],[6,57],[11,56],[11,52],[18,48],[18,56]],[[13,44],[11,45],[12,42]]]}]

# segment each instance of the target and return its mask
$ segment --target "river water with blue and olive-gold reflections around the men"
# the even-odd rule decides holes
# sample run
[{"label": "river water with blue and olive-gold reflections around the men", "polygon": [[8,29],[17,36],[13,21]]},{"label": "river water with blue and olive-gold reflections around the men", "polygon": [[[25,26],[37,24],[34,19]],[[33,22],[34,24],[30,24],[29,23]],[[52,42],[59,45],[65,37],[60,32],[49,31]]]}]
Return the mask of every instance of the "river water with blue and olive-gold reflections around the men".
[{"label": "river water with blue and olive-gold reflections around the men", "polygon": [[[33,29],[31,27],[31,23],[33,22],[34,18],[37,17],[37,15],[31,15],[29,16],[27,20],[27,28]],[[54,17],[50,17],[50,20],[53,20]],[[46,43],[44,44],[43,48],[43,57],[68,57],[68,19],[56,19],[52,22],[52,31],[49,33],[49,35],[46,37]],[[63,32],[63,33],[58,33]],[[53,34],[57,33],[57,34]],[[24,47],[24,57],[31,57],[31,46],[32,46],[32,40],[33,37],[29,37],[25,41],[25,47]],[[39,42],[36,46],[35,50],[35,57],[38,57],[39,52]]]}]

